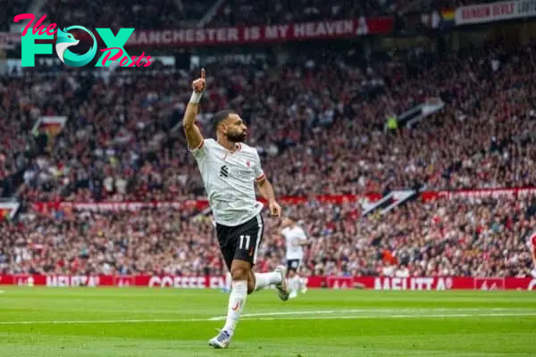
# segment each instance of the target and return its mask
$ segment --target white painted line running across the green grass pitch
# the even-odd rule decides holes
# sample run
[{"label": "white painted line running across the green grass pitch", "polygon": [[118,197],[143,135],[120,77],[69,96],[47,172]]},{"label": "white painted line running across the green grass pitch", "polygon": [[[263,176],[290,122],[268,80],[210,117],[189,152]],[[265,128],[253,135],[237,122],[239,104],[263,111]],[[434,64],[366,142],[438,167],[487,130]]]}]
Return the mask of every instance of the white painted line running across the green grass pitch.
[{"label": "white painted line running across the green grass pitch", "polygon": [[[446,309],[438,309],[446,310]],[[490,309],[495,310],[495,309]],[[381,312],[386,310],[372,310],[367,312]],[[527,312],[484,312],[484,313],[453,313],[453,314],[438,314],[431,313],[427,315],[419,314],[393,314],[393,315],[354,315],[354,316],[292,316],[298,313],[313,313],[313,311],[288,311],[288,312],[265,312],[255,314],[244,314],[242,320],[362,320],[362,319],[448,319],[448,318],[479,318],[479,317],[523,317],[523,316],[536,316],[536,311]],[[315,313],[344,313],[344,310],[328,310],[328,311],[316,311]],[[399,311],[398,311],[399,312]],[[347,312],[348,313],[348,312]],[[276,318],[277,316],[289,316],[286,318]],[[290,318],[290,316],[292,316]],[[177,320],[67,320],[67,321],[0,321],[0,325],[88,325],[88,324],[131,324],[131,323],[173,323],[173,322],[207,322],[225,320],[225,316],[217,316],[208,319],[177,319]]]}]

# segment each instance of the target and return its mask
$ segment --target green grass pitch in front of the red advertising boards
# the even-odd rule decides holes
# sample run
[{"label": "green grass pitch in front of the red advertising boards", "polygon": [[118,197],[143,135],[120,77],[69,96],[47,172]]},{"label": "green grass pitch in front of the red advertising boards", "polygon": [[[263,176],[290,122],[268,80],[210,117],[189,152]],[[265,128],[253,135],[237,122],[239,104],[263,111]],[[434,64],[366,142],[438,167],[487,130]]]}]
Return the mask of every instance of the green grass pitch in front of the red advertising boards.
[{"label": "green grass pitch in front of the red advertising boards", "polygon": [[227,350],[219,290],[0,286],[0,356],[536,356],[536,294],[250,295]]}]

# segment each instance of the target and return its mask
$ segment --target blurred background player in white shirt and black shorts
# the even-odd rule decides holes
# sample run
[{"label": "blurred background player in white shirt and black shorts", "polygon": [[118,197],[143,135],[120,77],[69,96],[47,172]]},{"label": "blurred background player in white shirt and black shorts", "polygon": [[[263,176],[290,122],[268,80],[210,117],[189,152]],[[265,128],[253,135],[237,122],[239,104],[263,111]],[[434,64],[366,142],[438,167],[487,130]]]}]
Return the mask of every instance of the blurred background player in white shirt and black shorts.
[{"label": "blurred background player in white shirt and black shorts", "polygon": [[285,217],[281,221],[281,236],[287,243],[287,270],[289,271],[289,298],[297,297],[298,290],[307,291],[306,278],[300,278],[298,272],[304,259],[304,245],[307,245],[306,231],[297,224],[295,217]]}]

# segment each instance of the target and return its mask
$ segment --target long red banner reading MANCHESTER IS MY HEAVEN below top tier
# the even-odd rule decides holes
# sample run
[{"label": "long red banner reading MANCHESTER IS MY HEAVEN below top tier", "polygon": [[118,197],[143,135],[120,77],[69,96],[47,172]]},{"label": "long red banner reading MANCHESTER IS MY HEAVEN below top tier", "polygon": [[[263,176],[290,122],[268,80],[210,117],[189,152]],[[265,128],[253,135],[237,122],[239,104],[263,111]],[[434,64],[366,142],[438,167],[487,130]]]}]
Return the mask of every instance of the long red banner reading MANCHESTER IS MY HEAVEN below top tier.
[{"label": "long red banner reading MANCHESTER IS MY HEAVEN below top tier", "polygon": [[[276,43],[306,39],[336,39],[365,35],[385,35],[393,30],[391,17],[282,23],[279,25],[237,26],[202,29],[136,29],[125,44],[127,47],[184,47]],[[73,31],[81,40],[88,33]],[[99,42],[102,40],[99,39]]]}]

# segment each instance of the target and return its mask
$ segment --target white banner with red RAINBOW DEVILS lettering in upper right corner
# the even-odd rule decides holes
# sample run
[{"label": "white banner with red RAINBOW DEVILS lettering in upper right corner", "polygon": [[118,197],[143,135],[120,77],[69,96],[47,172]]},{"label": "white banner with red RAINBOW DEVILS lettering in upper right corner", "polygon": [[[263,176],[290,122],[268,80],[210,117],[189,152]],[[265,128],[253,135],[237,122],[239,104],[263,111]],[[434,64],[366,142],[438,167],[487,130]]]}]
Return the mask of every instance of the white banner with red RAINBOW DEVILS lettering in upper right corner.
[{"label": "white banner with red RAINBOW DEVILS lettering in upper right corner", "polygon": [[536,16],[536,0],[504,1],[456,9],[456,26]]}]

